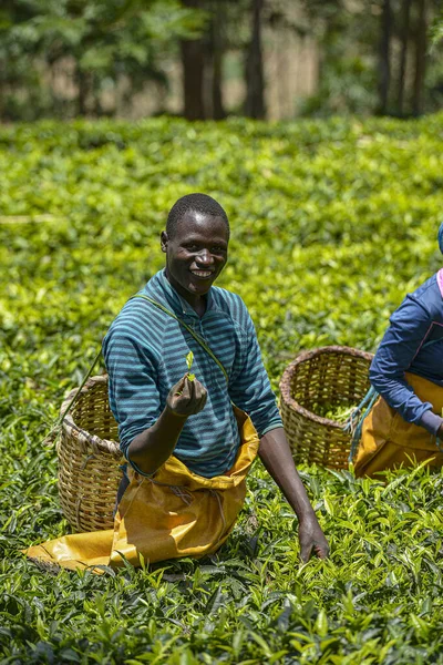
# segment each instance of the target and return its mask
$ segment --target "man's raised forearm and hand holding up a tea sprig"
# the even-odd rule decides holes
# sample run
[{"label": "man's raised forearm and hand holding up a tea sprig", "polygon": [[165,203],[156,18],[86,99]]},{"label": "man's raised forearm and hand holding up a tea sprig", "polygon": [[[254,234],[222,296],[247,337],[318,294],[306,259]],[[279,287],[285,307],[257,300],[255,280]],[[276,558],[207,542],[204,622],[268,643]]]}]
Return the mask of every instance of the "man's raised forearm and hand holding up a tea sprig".
[{"label": "man's raised forearm and hand holding up a tea sprig", "polygon": [[206,389],[197,379],[189,381],[184,376],[173,386],[157,421],[130,443],[126,457],[134,469],[146,475],[155,473],[174,452],[186,420],[204,409],[206,399]]}]

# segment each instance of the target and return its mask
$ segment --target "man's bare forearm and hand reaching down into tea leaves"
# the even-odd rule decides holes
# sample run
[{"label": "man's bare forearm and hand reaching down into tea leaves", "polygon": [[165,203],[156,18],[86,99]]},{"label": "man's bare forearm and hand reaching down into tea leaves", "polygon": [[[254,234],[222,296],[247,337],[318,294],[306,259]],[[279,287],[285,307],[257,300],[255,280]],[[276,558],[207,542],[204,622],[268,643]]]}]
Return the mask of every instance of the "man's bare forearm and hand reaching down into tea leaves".
[{"label": "man's bare forearm and hand reaching down into tea leaves", "polygon": [[297,472],[284,428],[272,429],[261,437],[258,454],[297,514],[301,560],[308,561],[312,553],[327,557],[328,541]]}]

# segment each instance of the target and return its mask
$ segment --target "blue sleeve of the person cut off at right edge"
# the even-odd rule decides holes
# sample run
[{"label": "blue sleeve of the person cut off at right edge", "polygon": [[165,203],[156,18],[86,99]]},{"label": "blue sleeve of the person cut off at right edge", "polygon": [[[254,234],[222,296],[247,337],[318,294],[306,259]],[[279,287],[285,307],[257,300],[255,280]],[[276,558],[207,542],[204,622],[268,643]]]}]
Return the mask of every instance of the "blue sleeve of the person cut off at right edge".
[{"label": "blue sleeve of the person cut off at right edge", "polygon": [[406,422],[424,427],[432,434],[442,419],[422,402],[405,380],[404,372],[429,332],[431,316],[413,295],[408,295],[390,318],[388,328],[372,360],[369,378],[375,390]]}]

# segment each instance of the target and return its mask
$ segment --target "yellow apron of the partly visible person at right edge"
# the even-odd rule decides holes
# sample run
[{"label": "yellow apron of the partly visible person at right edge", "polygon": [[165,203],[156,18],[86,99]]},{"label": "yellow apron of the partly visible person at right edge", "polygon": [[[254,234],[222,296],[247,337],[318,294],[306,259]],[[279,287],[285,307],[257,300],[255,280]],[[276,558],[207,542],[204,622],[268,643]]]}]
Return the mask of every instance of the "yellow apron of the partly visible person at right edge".
[{"label": "yellow apron of the partly visible person at right edge", "polygon": [[[422,401],[429,401],[435,413],[443,408],[443,388],[427,379],[406,372],[408,383]],[[423,427],[406,422],[380,397],[363,421],[362,436],[354,460],[356,475],[373,475],[384,469],[411,467],[429,460],[442,467],[443,453],[436,439]]]}]

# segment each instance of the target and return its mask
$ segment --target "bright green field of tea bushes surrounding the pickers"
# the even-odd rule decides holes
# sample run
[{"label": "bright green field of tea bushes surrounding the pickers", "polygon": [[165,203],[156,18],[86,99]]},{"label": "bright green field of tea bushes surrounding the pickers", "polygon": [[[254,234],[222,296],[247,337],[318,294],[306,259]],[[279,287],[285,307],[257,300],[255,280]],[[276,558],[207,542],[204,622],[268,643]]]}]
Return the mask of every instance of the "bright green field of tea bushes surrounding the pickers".
[{"label": "bright green field of tea bushes surrounding the pickers", "polygon": [[374,350],[441,266],[443,115],[0,129],[0,663],[443,663],[443,474],[356,480],[301,467],[331,545],[297,523],[259,462],[210,559],[51,575],[20,550],[68,532],[42,439],[123,303],[163,265],[176,198],[231,223],[220,285],[256,323],[278,389],[300,350]]}]

